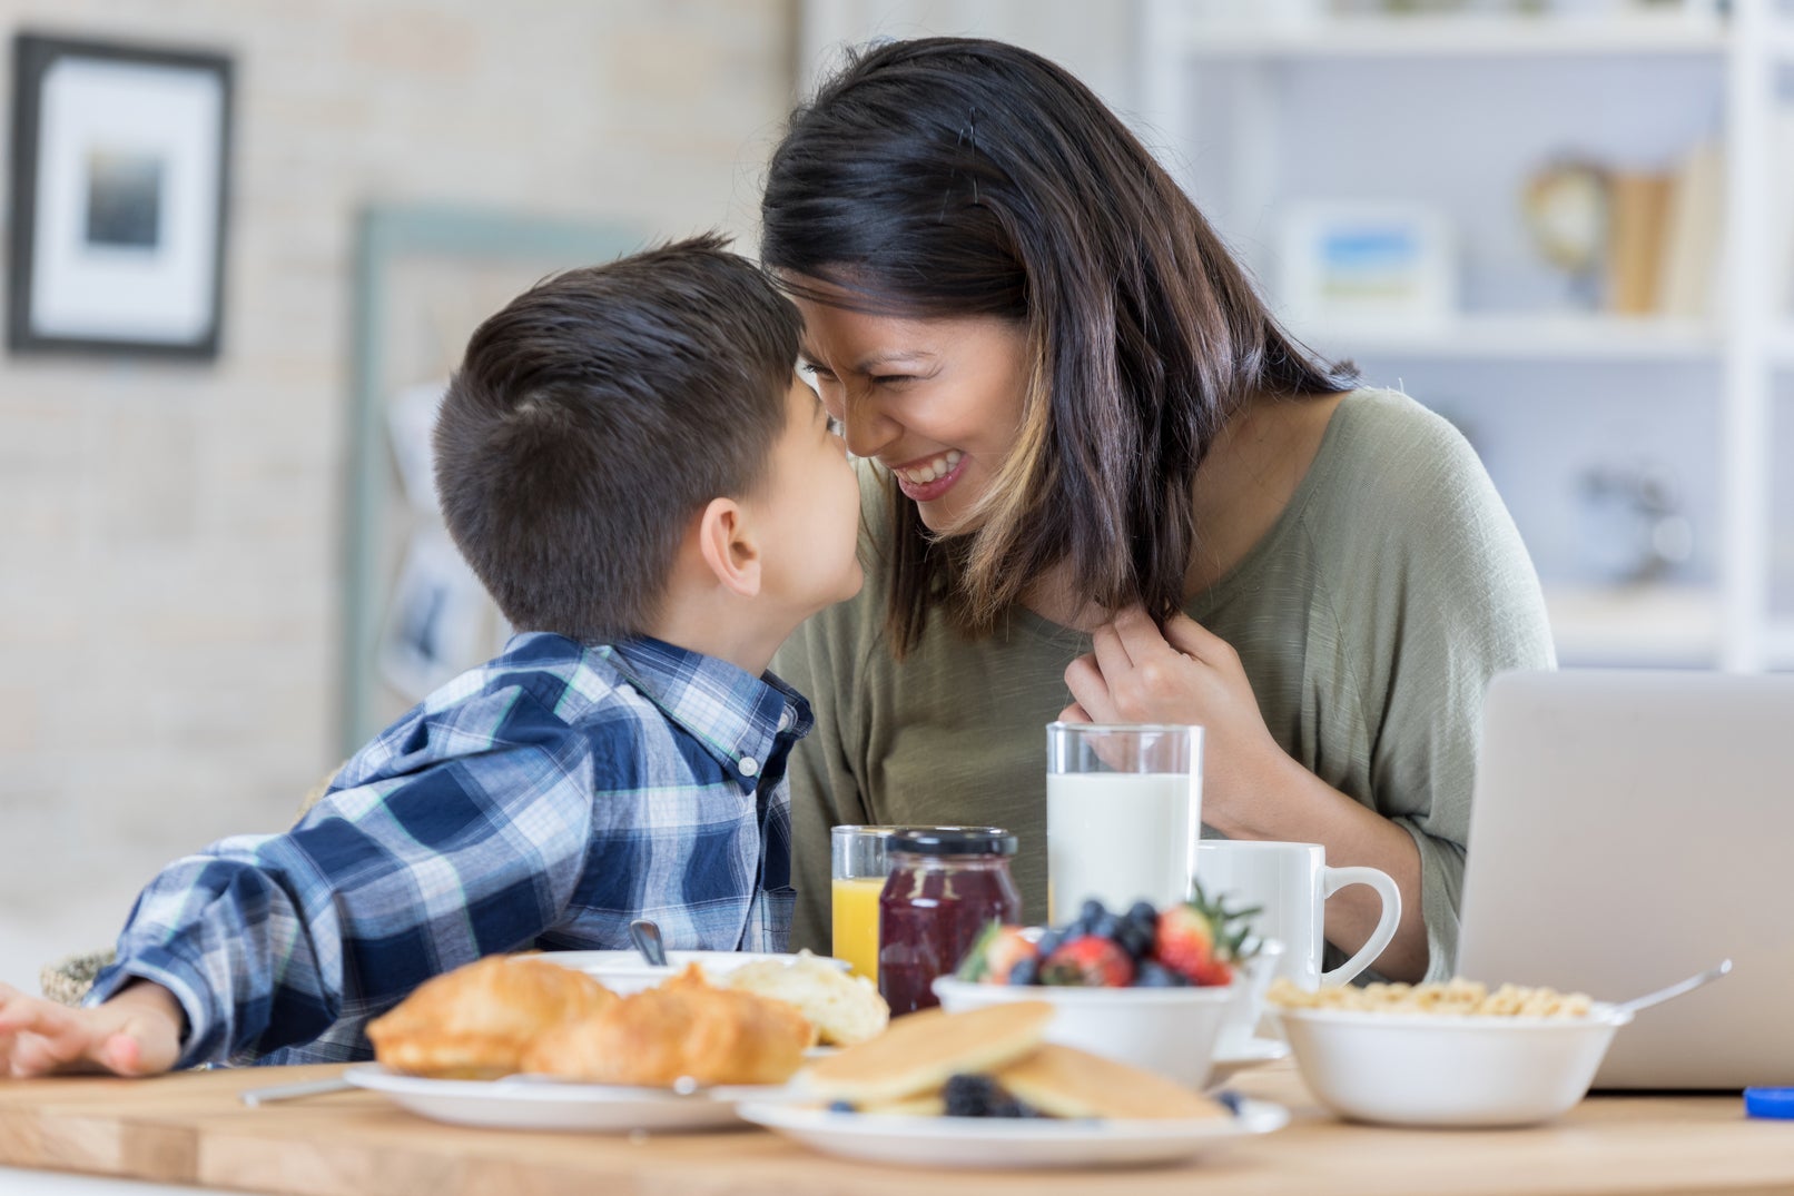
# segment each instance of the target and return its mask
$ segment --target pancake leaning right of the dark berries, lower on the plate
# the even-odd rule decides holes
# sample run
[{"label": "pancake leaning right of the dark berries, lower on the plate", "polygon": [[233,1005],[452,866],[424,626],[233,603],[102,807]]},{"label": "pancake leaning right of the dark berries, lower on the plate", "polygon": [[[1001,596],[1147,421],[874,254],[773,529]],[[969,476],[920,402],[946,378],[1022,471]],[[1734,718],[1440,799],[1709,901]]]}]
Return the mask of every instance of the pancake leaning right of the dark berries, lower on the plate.
[{"label": "pancake leaning right of the dark berries, lower on the plate", "polygon": [[1225,1108],[1175,1079],[1048,1042],[992,1072],[1015,1099],[1049,1117],[1193,1119]]}]

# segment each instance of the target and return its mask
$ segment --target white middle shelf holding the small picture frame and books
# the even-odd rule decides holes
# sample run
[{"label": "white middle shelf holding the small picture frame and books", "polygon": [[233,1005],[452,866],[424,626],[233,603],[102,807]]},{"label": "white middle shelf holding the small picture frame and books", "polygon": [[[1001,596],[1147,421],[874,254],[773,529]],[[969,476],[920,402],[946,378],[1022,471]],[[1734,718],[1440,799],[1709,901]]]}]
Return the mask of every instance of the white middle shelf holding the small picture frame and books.
[{"label": "white middle shelf holding the small picture frame and books", "polygon": [[[1451,360],[1717,360],[1720,335],[1701,321],[1627,316],[1464,316],[1439,326],[1292,325],[1324,353]],[[1789,341],[1794,362],[1794,337]]]}]

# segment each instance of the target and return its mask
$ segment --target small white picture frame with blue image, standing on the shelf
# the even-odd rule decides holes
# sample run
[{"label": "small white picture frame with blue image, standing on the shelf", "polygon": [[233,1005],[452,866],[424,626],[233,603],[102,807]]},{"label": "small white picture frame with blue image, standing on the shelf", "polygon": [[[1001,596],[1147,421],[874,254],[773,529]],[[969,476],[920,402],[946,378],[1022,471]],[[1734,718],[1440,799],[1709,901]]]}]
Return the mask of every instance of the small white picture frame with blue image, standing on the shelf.
[{"label": "small white picture frame with blue image, standing on the shelf", "polygon": [[1299,330],[1444,326],[1457,310],[1450,222],[1424,204],[1292,204],[1279,290]]}]

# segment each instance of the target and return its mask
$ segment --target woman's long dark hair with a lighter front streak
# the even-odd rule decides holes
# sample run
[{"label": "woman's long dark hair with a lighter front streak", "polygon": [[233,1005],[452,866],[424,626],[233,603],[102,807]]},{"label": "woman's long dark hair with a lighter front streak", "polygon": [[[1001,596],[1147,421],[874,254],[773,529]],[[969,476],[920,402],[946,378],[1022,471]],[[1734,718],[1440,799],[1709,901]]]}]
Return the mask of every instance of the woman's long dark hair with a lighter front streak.
[{"label": "woman's long dark hair with a lighter front streak", "polygon": [[1015,450],[965,536],[892,486],[886,628],[929,610],[987,635],[1042,572],[1159,619],[1184,602],[1193,482],[1252,394],[1349,389],[1310,357],[1166,170],[1096,95],[999,41],[850,56],[771,158],[762,264],[791,294],[910,317],[997,316],[1033,378]]}]

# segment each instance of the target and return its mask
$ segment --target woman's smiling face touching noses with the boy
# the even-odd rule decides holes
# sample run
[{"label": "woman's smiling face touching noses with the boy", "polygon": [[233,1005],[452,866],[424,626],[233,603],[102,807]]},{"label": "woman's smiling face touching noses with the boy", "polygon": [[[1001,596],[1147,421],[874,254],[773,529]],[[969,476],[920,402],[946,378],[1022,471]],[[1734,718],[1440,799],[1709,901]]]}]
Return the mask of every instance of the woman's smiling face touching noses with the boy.
[{"label": "woman's smiling face touching noses with the boy", "polygon": [[[814,285],[814,282],[811,282]],[[996,316],[904,319],[814,299],[802,371],[856,457],[875,457],[935,533],[967,533],[1021,432],[1028,335]]]}]

